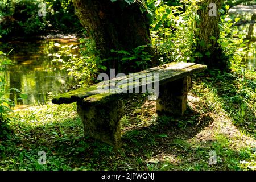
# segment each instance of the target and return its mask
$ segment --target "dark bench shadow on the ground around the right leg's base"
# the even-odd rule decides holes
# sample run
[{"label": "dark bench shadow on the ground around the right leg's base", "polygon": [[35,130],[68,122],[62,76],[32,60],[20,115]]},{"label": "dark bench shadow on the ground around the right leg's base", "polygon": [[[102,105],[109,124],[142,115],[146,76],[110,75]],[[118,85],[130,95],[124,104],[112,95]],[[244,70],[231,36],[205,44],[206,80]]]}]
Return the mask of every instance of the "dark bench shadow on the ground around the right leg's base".
[{"label": "dark bench shadow on the ground around the right leg's base", "polygon": [[132,147],[131,150],[135,151],[137,148],[145,150],[147,147],[168,148],[172,140],[191,139],[213,122],[209,115],[202,116],[191,109],[188,109],[184,117],[158,115],[154,120],[150,126],[134,127],[126,131],[122,136],[125,146]]}]

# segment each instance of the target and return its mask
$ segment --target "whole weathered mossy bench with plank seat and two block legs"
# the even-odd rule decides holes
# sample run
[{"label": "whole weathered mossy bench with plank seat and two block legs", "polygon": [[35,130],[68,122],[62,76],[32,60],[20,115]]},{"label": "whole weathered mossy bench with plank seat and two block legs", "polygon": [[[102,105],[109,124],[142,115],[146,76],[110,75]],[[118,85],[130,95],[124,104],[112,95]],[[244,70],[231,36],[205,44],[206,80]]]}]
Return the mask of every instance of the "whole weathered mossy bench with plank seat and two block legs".
[{"label": "whole weathered mossy bench with plank seat and two block legs", "polygon": [[192,88],[191,76],[206,68],[206,65],[195,63],[164,64],[60,94],[53,98],[52,103],[77,102],[77,113],[84,123],[85,135],[118,148],[121,147],[119,120],[123,115],[123,97],[153,93],[158,113],[183,115],[187,108],[187,93]]}]

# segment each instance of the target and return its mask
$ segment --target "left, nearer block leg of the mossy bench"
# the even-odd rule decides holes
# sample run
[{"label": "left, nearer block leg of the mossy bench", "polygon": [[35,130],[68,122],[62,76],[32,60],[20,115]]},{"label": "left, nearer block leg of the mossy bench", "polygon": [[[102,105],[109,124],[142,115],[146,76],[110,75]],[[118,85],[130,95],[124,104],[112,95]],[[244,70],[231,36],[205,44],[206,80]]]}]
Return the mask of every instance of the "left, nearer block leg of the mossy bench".
[{"label": "left, nearer block leg of the mossy bench", "polygon": [[77,102],[77,113],[84,123],[84,134],[108,143],[114,148],[121,147],[120,119],[123,115],[122,100],[104,104]]}]

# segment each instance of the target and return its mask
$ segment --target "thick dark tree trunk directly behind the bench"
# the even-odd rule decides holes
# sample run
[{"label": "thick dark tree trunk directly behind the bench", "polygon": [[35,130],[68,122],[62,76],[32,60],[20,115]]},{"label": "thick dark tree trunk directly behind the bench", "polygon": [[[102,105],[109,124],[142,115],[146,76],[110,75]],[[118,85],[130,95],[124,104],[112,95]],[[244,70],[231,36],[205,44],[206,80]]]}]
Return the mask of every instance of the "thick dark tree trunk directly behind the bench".
[{"label": "thick dark tree trunk directly behind the bench", "polygon": [[[102,59],[112,57],[111,49],[130,51],[151,43],[146,13],[138,3],[125,1],[72,0],[80,22],[94,41]],[[152,49],[150,53],[154,52]],[[109,61],[108,69],[118,70],[118,60]],[[118,71],[122,71],[118,70]]]}]

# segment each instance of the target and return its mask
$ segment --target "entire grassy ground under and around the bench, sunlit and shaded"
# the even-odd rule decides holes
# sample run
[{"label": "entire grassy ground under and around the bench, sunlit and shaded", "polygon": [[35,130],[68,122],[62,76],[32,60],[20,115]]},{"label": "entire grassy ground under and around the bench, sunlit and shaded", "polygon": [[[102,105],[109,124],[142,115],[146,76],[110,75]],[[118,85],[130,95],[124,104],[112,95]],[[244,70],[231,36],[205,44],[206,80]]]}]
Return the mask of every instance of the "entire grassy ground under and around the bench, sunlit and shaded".
[{"label": "entire grassy ground under and around the bench, sunlit and shaded", "polygon": [[[15,111],[11,139],[0,141],[0,170],[254,170],[255,78],[249,71],[201,73],[184,117],[158,116],[154,101],[128,98],[119,150],[84,137],[76,104]],[[208,163],[210,151],[216,165]]]}]

